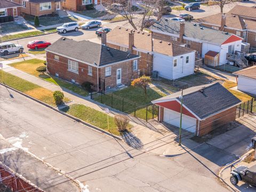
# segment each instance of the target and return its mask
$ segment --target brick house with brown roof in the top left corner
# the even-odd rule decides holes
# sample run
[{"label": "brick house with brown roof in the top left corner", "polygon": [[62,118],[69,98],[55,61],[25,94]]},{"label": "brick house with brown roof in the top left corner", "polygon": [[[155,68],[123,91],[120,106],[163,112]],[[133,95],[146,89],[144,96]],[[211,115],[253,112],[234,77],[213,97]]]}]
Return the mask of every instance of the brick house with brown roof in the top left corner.
[{"label": "brick house with brown roof in the top left corner", "polygon": [[0,1],[0,17],[5,16],[13,16],[16,17],[20,15],[20,9],[22,5],[19,3],[15,3],[9,0],[1,0]]}]

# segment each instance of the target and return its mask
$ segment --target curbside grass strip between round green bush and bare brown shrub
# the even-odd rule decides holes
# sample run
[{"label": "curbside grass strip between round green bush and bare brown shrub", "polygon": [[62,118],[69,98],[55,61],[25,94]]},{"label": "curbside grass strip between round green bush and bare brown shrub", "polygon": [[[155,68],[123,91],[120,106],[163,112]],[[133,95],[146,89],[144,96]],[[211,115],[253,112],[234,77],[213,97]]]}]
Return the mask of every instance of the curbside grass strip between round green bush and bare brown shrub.
[{"label": "curbside grass strip between round green bush and bare brown shrub", "polygon": [[[90,107],[86,107],[81,104],[74,104],[70,107],[62,109],[65,113],[82,119],[85,122],[88,122],[94,126],[100,127],[101,129],[108,131],[115,135],[121,135],[120,132],[117,130],[117,127],[114,122],[114,117],[109,117],[109,130],[108,130],[108,123],[107,123],[107,114],[102,113],[98,110],[92,109]],[[128,130],[132,126],[129,124]]]}]

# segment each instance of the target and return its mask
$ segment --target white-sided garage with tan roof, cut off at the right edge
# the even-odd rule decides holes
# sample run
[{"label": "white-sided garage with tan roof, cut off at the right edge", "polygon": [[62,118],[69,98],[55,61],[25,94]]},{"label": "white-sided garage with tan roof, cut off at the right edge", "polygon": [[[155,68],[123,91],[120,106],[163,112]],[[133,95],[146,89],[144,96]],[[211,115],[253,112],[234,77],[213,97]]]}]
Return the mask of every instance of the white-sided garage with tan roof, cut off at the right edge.
[{"label": "white-sided garage with tan roof, cut off at the right edge", "polygon": [[237,89],[253,96],[256,95],[256,66],[236,71]]}]

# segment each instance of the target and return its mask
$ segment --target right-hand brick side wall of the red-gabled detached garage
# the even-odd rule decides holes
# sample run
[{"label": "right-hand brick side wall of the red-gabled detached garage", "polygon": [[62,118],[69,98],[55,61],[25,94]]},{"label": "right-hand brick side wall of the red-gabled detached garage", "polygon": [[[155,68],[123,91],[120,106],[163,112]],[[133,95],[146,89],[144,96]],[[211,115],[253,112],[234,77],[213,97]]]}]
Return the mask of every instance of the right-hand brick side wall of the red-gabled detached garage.
[{"label": "right-hand brick side wall of the red-gabled detached garage", "polygon": [[225,125],[236,119],[236,107],[230,108],[228,110],[222,111],[212,117],[199,122],[199,136],[202,136],[210,131]]}]

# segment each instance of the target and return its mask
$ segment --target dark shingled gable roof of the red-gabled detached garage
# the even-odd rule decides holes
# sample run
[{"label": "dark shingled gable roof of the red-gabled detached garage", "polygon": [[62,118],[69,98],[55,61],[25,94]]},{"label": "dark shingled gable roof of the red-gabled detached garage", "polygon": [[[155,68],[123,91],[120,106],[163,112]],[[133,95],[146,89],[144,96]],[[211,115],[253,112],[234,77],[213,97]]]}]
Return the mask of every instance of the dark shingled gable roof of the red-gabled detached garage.
[{"label": "dark shingled gable roof of the red-gabled detached garage", "polygon": [[[178,100],[181,91],[167,95],[163,98],[152,101],[161,103]],[[220,83],[212,83],[190,87],[183,90],[183,105],[200,119],[205,119],[218,114],[223,110],[236,106],[241,101],[230,93]]]}]

